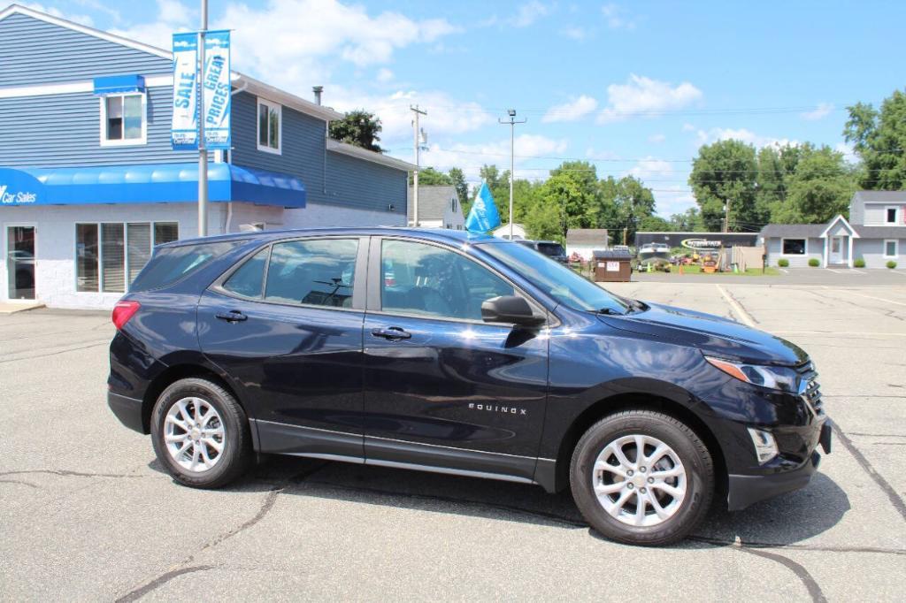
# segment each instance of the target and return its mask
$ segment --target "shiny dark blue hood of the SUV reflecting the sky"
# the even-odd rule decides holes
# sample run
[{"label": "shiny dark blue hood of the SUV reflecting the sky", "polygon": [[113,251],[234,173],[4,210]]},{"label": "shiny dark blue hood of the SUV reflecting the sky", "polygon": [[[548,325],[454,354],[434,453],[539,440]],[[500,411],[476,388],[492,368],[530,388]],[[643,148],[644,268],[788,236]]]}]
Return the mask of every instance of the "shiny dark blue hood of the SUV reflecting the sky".
[{"label": "shiny dark blue hood of the SUV reflecting the sky", "polygon": [[614,329],[700,349],[703,353],[752,364],[795,366],[808,359],[794,343],[763,330],[694,310],[649,303],[649,309],[625,316],[601,314]]}]

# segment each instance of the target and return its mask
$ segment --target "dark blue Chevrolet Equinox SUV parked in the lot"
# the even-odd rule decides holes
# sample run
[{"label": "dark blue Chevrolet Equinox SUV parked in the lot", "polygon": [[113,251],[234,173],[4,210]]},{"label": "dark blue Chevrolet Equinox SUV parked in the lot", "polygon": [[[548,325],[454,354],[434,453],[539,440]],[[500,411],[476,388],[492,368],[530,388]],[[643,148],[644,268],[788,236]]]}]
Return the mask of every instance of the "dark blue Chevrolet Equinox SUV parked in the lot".
[{"label": "dark blue Chevrolet Equinox SUV parked in the lot", "polygon": [[255,452],[569,486],[596,530],[663,544],[714,498],[805,486],[830,448],[802,349],[489,236],[165,244],[113,321],[110,407],[195,487]]}]

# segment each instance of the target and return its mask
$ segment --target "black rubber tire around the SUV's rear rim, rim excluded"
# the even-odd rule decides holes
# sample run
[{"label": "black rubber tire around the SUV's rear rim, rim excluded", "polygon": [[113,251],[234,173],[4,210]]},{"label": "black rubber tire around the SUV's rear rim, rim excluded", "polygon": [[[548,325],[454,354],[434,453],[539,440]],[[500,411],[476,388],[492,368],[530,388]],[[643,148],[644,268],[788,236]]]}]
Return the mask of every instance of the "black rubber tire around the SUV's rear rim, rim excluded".
[{"label": "black rubber tire around the SUV's rear rim, rim excluded", "polygon": [[[164,420],[170,407],[185,397],[198,397],[217,410],[224,427],[224,449],[217,463],[207,471],[190,471],[180,466],[164,443]],[[246,472],[251,464],[252,435],[245,411],[226,389],[204,378],[179,379],[164,389],[151,414],[151,442],[158,460],[178,483],[192,488],[220,488]]]}]

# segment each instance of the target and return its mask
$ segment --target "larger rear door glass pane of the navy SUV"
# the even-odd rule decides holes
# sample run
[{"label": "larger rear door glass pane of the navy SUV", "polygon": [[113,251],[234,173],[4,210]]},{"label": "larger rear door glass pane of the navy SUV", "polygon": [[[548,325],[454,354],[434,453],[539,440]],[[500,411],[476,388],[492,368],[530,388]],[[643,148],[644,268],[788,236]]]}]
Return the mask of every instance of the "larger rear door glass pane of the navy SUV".
[{"label": "larger rear door glass pane of the navy SUV", "polygon": [[352,307],[359,239],[314,239],[274,244],[265,302]]}]

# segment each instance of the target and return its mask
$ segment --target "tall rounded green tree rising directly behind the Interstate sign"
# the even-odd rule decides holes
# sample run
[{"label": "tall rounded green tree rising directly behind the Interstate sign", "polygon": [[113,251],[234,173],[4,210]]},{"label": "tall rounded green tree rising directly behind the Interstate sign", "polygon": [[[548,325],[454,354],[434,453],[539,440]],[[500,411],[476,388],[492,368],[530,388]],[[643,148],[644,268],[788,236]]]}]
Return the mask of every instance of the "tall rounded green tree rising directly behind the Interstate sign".
[{"label": "tall rounded green tree rising directly behind the Interstate sign", "polygon": [[718,140],[699,148],[689,186],[708,230],[720,230],[729,205],[728,231],[757,230],[767,215],[756,204],[755,147],[741,140]]}]

